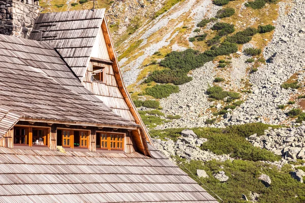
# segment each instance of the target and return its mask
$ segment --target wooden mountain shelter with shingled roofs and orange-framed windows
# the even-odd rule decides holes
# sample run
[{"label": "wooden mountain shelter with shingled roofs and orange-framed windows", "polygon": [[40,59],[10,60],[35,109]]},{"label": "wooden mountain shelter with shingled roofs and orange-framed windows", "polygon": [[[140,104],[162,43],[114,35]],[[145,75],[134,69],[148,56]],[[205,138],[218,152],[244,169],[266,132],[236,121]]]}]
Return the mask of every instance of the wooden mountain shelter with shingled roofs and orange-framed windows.
[{"label": "wooden mountain shelter with shingled roofs and orange-framed windows", "polygon": [[0,202],[217,202],[153,147],[105,10],[0,35]]}]

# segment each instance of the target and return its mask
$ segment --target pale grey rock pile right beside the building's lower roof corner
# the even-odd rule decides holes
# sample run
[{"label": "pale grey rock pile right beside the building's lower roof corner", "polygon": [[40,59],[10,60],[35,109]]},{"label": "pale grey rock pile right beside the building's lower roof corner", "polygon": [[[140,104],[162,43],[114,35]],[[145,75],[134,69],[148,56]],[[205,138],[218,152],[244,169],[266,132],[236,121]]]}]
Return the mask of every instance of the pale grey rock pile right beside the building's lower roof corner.
[{"label": "pale grey rock pile right beside the building's lower roof corner", "polygon": [[162,141],[160,139],[153,139],[155,147],[160,150],[166,157],[179,156],[187,160],[202,160],[209,161],[212,159],[226,161],[230,158],[228,154],[216,155],[210,151],[200,149],[200,146],[207,142],[205,138],[198,138],[193,130],[185,129],[181,132],[181,137],[176,142],[168,139]]}]

